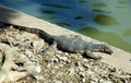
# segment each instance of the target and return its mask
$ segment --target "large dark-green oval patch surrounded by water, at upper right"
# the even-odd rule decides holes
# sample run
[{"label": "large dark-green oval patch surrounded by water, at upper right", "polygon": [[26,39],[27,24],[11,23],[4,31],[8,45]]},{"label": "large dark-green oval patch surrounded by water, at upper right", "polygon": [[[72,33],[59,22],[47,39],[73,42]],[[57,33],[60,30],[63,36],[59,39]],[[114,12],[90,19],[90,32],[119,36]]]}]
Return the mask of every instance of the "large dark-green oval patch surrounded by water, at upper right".
[{"label": "large dark-green oval patch surrounded by water, at upper right", "polygon": [[116,17],[105,15],[105,14],[98,14],[94,19],[94,21],[100,25],[117,25],[120,24]]}]

